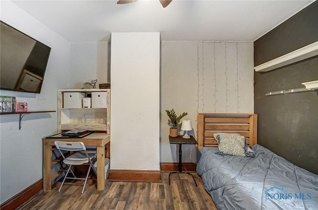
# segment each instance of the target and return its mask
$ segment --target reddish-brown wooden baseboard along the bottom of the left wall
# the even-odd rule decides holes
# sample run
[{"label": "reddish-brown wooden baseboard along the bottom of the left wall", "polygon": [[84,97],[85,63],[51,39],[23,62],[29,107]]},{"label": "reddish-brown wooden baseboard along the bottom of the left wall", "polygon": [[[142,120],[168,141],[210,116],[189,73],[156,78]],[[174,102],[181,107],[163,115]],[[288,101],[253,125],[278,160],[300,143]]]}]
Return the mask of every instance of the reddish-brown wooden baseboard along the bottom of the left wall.
[{"label": "reddish-brown wooden baseboard along the bottom of the left wall", "polygon": [[17,195],[13,196],[6,202],[2,203],[0,206],[1,210],[15,210],[23,203],[27,202],[30,198],[36,195],[38,192],[43,190],[43,181],[40,179],[33,185],[29,186],[28,188],[24,189]]}]

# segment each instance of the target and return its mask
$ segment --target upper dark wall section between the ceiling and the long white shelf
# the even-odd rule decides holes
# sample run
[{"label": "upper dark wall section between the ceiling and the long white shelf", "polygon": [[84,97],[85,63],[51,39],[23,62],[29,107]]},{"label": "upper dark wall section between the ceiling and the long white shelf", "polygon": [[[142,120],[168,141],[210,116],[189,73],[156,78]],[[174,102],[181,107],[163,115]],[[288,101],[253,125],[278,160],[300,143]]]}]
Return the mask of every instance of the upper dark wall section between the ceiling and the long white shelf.
[{"label": "upper dark wall section between the ceiling and the long white shelf", "polygon": [[318,1],[254,41],[254,66],[316,41],[318,41]]}]

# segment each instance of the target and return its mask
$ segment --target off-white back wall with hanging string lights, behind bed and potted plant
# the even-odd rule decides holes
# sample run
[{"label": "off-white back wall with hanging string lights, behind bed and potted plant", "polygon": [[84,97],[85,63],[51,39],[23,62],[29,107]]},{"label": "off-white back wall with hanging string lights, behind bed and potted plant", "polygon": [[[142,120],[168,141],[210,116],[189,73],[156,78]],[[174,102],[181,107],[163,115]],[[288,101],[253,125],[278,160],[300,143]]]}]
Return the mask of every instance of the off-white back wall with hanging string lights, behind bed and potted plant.
[{"label": "off-white back wall with hanging string lights, behind bed and potted plant", "polygon": [[[195,138],[199,112],[253,112],[252,42],[162,41],[160,59],[160,162],[178,161],[166,109],[188,112]],[[182,146],[182,161],[196,162],[196,146]]]}]

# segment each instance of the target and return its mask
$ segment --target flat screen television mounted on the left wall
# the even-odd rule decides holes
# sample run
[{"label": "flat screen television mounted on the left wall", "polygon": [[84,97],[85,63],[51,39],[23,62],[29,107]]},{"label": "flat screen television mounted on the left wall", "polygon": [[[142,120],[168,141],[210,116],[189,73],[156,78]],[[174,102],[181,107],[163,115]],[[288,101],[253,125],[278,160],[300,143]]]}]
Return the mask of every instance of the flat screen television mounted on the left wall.
[{"label": "flat screen television mounted on the left wall", "polygon": [[40,93],[51,48],[0,21],[0,89]]}]

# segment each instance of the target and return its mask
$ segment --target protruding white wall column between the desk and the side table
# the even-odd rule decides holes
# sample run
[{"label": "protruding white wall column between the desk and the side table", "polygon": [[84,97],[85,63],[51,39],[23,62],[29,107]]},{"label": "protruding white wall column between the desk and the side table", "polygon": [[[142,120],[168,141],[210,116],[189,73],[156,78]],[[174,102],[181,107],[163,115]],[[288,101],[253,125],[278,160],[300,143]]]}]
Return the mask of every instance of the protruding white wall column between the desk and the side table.
[{"label": "protruding white wall column between the desk and the side table", "polygon": [[111,35],[111,169],[160,170],[159,32]]}]

